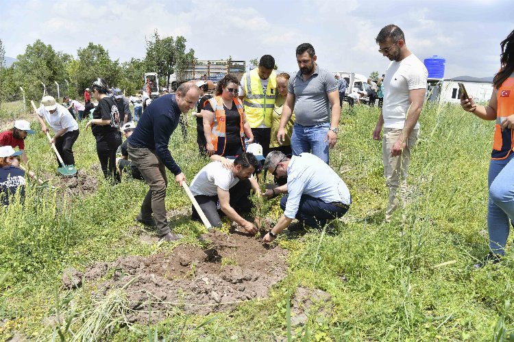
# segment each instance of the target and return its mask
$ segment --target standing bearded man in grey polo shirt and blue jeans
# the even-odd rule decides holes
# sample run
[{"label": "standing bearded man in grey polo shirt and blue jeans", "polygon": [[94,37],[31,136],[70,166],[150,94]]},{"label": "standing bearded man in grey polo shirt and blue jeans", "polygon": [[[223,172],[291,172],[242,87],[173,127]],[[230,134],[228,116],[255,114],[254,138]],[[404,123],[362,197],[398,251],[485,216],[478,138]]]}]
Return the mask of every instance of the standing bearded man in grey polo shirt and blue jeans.
[{"label": "standing bearded man in grey polo shirt and blue jeans", "polygon": [[328,163],[328,148],[336,145],[341,105],[334,75],[319,68],[316,59],[311,44],[300,44],[296,48],[299,72],[289,81],[277,140],[279,143],[284,141],[285,127],[294,109],[293,155],[312,151],[313,155]]}]

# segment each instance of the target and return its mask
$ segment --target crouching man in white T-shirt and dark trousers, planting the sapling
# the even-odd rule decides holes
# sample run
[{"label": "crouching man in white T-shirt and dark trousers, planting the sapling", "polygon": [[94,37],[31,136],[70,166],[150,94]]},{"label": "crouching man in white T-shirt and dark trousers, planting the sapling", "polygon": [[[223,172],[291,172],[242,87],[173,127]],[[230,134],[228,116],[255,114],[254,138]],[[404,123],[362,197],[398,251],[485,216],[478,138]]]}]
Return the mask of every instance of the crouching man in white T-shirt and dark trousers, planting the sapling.
[{"label": "crouching man in white T-shirt and dark trousers, planting the sapling", "polygon": [[[198,172],[191,182],[191,192],[213,227],[221,228],[218,209],[227,217],[242,226],[247,233],[255,234],[258,229],[238,212],[250,211],[250,188],[260,196],[259,185],[252,174],[260,168],[260,163],[252,153],[242,153],[236,159],[212,155],[212,160]],[[219,201],[219,208],[217,202]],[[199,215],[193,207],[193,220]]]}]

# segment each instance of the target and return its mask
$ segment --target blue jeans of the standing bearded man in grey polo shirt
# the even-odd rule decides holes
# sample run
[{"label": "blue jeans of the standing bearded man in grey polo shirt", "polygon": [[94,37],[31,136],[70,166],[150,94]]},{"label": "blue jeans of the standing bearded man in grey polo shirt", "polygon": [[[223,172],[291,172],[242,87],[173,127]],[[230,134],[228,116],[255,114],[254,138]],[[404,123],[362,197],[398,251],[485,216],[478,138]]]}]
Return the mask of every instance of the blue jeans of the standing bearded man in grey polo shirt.
[{"label": "blue jeans of the standing bearded man in grey polo shirt", "polygon": [[[308,152],[313,153],[322,161],[328,163],[328,140],[326,140],[330,123],[302,126],[295,122],[291,135],[293,155]],[[312,152],[311,152],[312,151]]]}]

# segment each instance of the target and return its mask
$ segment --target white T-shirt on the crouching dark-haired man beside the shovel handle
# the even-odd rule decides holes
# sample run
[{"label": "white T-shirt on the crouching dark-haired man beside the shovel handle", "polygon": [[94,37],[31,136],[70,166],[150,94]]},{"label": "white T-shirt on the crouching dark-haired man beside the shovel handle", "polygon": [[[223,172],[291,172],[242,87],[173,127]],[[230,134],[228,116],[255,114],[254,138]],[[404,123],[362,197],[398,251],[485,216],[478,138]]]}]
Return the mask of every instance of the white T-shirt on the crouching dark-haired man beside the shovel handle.
[{"label": "white T-shirt on the crouching dark-haired man beside the shovel handle", "polygon": [[[231,159],[229,159],[231,160]],[[234,161],[232,160],[232,163]],[[211,161],[201,168],[200,172],[191,182],[191,192],[194,196],[217,196],[218,187],[228,191],[238,183],[239,179],[234,176],[232,170],[223,168],[221,161]]]}]

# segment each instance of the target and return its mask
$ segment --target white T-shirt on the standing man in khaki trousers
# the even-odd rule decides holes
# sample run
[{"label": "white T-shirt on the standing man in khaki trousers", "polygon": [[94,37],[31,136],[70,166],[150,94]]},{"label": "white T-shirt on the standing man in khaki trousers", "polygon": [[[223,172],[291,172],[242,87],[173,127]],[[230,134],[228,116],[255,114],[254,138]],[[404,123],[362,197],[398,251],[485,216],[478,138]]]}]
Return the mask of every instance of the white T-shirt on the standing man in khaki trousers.
[{"label": "white T-shirt on the standing man in khaki trousers", "polygon": [[[384,128],[403,129],[409,105],[408,91],[426,89],[428,71],[415,55],[391,62],[384,77]],[[419,129],[419,122],[415,129]]]}]

